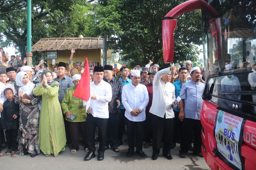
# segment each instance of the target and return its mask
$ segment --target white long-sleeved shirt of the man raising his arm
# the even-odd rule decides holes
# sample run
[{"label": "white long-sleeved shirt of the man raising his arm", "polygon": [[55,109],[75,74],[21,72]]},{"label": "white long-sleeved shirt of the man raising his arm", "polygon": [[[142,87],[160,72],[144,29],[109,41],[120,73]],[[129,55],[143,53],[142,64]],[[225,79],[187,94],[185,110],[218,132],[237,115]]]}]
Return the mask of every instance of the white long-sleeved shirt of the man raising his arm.
[{"label": "white long-sleeved shirt of the man raising his arm", "polygon": [[[158,71],[153,80],[153,100],[150,113],[153,115],[174,118],[172,102],[175,101],[175,87],[172,83],[165,83],[161,80],[162,76],[170,73],[170,68]],[[166,114],[166,115],[165,115]]]}]

